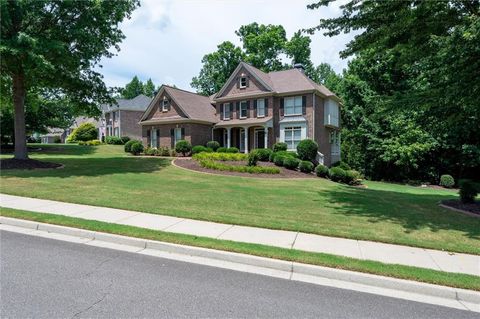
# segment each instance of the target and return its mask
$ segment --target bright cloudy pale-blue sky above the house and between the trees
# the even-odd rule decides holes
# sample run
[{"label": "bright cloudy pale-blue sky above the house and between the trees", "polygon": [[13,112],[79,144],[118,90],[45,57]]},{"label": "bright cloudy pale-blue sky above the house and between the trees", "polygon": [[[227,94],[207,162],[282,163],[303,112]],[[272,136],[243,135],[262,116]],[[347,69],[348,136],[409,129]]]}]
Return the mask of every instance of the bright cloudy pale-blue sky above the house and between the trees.
[{"label": "bright cloudy pale-blue sky above the house and between the trees", "polygon": [[[121,50],[101,61],[99,69],[107,86],[123,87],[134,75],[155,85],[169,84],[192,90],[192,77],[202,67],[202,57],[216,51],[223,41],[240,46],[235,35],[241,25],[281,24],[287,39],[299,29],[318,25],[320,18],[340,14],[339,5],[307,9],[313,0],[141,0],[130,20],[121,24],[126,38]],[[315,65],[326,62],[341,72],[347,60],[339,51],[353,35],[333,38],[316,32],[311,36]]]}]

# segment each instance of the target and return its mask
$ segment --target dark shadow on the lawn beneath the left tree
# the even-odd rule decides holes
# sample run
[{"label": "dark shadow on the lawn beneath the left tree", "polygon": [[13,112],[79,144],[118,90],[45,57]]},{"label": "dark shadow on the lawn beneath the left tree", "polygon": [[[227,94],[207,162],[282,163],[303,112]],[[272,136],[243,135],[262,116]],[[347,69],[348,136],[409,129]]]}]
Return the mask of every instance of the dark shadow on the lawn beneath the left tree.
[{"label": "dark shadow on the lawn beneath the left tree", "polygon": [[149,173],[158,171],[170,164],[168,159],[144,157],[52,157],[42,161],[62,163],[60,169],[4,170],[2,177],[39,178],[71,176],[101,176],[125,173]]}]

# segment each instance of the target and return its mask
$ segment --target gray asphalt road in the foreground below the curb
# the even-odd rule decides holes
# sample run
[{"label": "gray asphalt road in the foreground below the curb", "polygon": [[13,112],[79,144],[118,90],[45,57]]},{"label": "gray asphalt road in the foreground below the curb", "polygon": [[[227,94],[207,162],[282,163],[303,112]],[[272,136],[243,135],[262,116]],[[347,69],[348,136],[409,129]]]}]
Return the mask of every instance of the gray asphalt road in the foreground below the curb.
[{"label": "gray asphalt road in the foreground below the curb", "polygon": [[3,318],[478,318],[478,313],[0,232]]}]

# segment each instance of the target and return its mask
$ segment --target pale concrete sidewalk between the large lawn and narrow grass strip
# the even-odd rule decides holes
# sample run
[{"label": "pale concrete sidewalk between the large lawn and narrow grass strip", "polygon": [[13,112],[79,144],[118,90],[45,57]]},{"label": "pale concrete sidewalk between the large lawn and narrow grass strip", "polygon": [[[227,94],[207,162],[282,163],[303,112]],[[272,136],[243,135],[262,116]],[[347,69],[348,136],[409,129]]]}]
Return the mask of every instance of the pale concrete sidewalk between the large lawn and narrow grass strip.
[{"label": "pale concrete sidewalk between the large lawn and narrow grass strip", "polygon": [[0,206],[480,276],[480,256],[0,194]]}]

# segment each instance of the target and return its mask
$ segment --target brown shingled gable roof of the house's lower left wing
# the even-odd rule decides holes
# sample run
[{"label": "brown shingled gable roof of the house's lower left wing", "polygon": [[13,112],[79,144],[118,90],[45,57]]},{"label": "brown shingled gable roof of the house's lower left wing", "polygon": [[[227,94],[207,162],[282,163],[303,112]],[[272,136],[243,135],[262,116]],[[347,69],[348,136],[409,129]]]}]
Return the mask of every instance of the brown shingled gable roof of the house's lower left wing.
[{"label": "brown shingled gable roof of the house's lower left wing", "polygon": [[215,107],[211,104],[210,97],[174,88],[168,85],[162,85],[155,98],[150,102],[141,118],[141,122],[146,120],[148,114],[155,107],[158,99],[163,93],[168,94],[180,108],[180,110],[191,120],[206,121],[211,123],[218,122],[215,117]]}]

